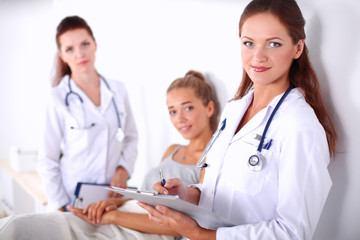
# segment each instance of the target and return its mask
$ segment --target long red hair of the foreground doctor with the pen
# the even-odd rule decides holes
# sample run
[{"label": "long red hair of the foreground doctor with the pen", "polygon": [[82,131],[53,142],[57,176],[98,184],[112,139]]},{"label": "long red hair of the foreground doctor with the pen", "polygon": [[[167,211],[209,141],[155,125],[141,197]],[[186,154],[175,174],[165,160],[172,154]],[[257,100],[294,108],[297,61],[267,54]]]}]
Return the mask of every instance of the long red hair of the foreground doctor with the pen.
[{"label": "long red hair of the foreground doctor with the pen", "polygon": [[[299,40],[305,39],[305,19],[295,0],[253,0],[245,8],[240,18],[239,34],[244,22],[251,16],[258,13],[271,13],[276,16],[287,28],[294,44]],[[324,101],[321,96],[319,81],[314,68],[311,65],[308,49],[304,45],[304,51],[298,59],[294,59],[290,71],[290,82],[302,89],[306,102],[314,109],[314,112],[325,129],[326,138],[329,145],[329,153],[334,156],[336,153],[336,131],[333,121],[326,111]],[[243,70],[241,84],[235,94],[234,99],[242,98],[251,88],[253,82]]]}]

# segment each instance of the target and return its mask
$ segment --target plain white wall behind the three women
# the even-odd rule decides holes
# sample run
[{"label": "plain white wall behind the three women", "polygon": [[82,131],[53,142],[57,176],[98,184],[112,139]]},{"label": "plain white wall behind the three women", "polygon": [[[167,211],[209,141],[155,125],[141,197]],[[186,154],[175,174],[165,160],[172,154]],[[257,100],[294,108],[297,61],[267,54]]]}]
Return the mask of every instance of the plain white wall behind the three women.
[{"label": "plain white wall behind the three women", "polygon": [[[360,4],[299,0],[308,47],[341,152],[330,165],[333,188],[315,239],[359,239]],[[236,0],[0,0],[0,159],[11,145],[36,147],[50,89],[54,35],[66,15],[84,17],[98,42],[97,69],[125,82],[140,132],[131,184],[158,163],[172,129],[165,91],[189,69],[204,72],[222,104],[241,79],[237,25],[248,1]]]}]

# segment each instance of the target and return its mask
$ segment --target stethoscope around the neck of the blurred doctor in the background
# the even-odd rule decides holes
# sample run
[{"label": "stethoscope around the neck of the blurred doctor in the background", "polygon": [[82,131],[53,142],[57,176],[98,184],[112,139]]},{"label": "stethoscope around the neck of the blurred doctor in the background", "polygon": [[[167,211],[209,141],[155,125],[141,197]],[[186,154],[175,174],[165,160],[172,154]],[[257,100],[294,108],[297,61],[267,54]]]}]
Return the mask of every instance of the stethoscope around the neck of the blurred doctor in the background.
[{"label": "stethoscope around the neck of the blurred doctor in the background", "polygon": [[[100,77],[100,79],[102,79],[102,80],[104,81],[106,87],[107,87],[110,91],[112,91],[111,88],[110,88],[110,85],[109,85],[108,82],[105,80],[105,78],[102,77],[101,75],[99,75],[99,77]],[[69,87],[69,92],[65,95],[65,105],[66,105],[66,107],[68,108],[68,111],[71,113],[70,105],[69,105],[69,97],[70,97],[71,95],[76,96],[76,97],[80,100],[80,103],[81,103],[81,106],[82,106],[82,112],[83,112],[83,119],[84,119],[84,126],[81,126],[81,125],[79,124],[79,122],[77,121],[78,126],[77,126],[77,127],[71,126],[70,129],[74,129],[74,130],[76,130],[76,129],[77,129],[77,130],[84,130],[84,129],[89,129],[89,128],[91,128],[91,127],[94,127],[94,126],[95,126],[95,123],[91,123],[90,125],[86,126],[86,114],[85,114],[85,109],[84,109],[84,104],[83,104],[84,102],[83,102],[82,97],[81,97],[78,93],[76,93],[76,92],[74,92],[74,91],[72,90],[71,84],[70,84],[70,75],[69,75],[69,77],[68,77],[68,87]],[[117,106],[116,106],[116,102],[115,102],[114,97],[113,97],[111,100],[112,100],[112,103],[113,103],[113,106],[114,106],[114,109],[115,109],[116,119],[117,119],[117,122],[118,122],[118,129],[117,129],[117,131],[116,131],[116,136],[115,136],[115,138],[116,138],[117,141],[121,142],[122,140],[124,140],[125,134],[124,134],[124,132],[123,132],[123,130],[122,130],[122,128],[121,128],[120,114],[119,114],[118,108],[117,108]]]}]

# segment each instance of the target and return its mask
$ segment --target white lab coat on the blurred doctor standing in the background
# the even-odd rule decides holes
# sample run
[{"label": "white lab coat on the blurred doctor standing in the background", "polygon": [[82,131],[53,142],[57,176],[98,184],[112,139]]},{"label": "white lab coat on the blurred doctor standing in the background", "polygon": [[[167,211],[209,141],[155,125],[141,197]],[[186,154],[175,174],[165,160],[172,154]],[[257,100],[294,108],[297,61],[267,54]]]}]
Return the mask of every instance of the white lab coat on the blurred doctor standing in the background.
[{"label": "white lab coat on the blurred doctor standing in the background", "polygon": [[[100,81],[100,107],[96,107],[71,80],[72,90],[81,96],[83,103],[71,94],[68,98],[69,112],[65,105],[65,96],[69,92],[68,76],[51,91],[38,159],[38,171],[48,197],[49,210],[72,204],[79,181],[110,183],[118,166],[123,166],[129,175],[133,172],[138,136],[128,94],[120,81],[106,81],[111,90],[103,80]],[[118,122],[113,97],[125,134],[122,142],[115,139]],[[71,129],[88,127],[91,123],[95,126]],[[59,160],[61,151],[63,157]]]}]

